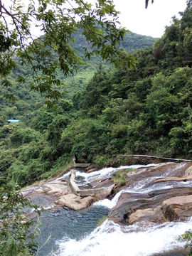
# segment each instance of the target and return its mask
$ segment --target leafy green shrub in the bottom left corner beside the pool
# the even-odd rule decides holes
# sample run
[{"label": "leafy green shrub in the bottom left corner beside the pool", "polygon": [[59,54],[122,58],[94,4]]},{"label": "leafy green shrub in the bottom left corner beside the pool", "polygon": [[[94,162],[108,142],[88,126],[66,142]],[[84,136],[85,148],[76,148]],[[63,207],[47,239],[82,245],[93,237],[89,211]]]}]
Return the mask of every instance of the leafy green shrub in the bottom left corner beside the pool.
[{"label": "leafy green shrub in the bottom left corner beside the pool", "polygon": [[[24,198],[18,185],[4,183],[0,187],[0,255],[33,255],[38,250],[36,220],[29,220],[26,208],[40,210]],[[24,210],[25,209],[25,210]],[[34,228],[35,227],[35,228]]]}]

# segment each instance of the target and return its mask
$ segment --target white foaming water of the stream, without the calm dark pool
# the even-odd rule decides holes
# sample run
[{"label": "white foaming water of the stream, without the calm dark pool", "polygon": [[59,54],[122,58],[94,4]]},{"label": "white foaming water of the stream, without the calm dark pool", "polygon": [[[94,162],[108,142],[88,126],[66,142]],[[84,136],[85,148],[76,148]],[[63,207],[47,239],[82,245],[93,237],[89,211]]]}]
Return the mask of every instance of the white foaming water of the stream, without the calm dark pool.
[{"label": "white foaming water of the stream, without the calm dark pool", "polygon": [[[140,167],[140,166],[139,166]],[[132,166],[122,166],[122,168],[136,168]],[[87,181],[94,181],[97,178],[111,176],[118,169],[102,169],[97,174],[83,174]],[[80,174],[82,176],[82,173]],[[124,193],[149,193],[159,189],[169,189],[173,187],[191,187],[192,181],[187,182],[166,182],[149,183],[156,178],[164,178],[171,175],[171,170],[158,177],[146,178],[135,182],[124,191],[120,191],[109,201],[107,199],[95,203],[93,206],[105,206],[112,208],[116,205],[122,192]],[[57,256],[152,256],[154,254],[176,250],[184,246],[183,240],[178,240],[179,235],[186,230],[192,229],[192,218],[186,222],[172,222],[164,224],[137,223],[134,225],[118,225],[112,221],[105,220],[99,228],[96,228],[90,235],[77,241],[63,238],[56,242],[59,245]]]}]

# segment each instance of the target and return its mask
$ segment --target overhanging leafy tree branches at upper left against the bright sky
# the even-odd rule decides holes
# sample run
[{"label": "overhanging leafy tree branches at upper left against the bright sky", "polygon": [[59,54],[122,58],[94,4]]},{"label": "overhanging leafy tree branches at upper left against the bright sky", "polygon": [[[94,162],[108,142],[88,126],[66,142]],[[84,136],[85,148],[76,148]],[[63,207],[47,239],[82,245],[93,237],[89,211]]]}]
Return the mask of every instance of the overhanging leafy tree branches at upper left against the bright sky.
[{"label": "overhanging leafy tree branches at upper left against the bright sky", "polygon": [[[117,28],[119,12],[112,1],[100,0],[95,6],[83,0],[29,0],[25,4],[14,0],[6,6],[0,0],[0,76],[4,86],[11,85],[9,74],[19,61],[29,68],[17,75],[18,84],[27,83],[31,90],[46,97],[48,106],[54,105],[63,96],[57,90],[63,84],[57,71],[60,69],[67,76],[77,71],[79,65],[86,65],[71,46],[77,31],[86,39],[82,48],[87,59],[100,55],[114,65],[126,62],[128,67],[136,62],[130,53],[119,58],[122,52],[117,45],[129,31]],[[38,31],[42,36],[33,36]],[[14,95],[6,97],[15,100]]]}]

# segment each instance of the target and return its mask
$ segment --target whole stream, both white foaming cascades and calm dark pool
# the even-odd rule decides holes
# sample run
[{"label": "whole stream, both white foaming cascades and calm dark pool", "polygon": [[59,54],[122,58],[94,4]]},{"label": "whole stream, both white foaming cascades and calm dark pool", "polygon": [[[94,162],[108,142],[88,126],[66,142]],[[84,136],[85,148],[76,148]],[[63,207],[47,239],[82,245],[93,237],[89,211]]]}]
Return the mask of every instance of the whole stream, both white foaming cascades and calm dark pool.
[{"label": "whole stream, both white foaming cascades and calm dark pool", "polygon": [[[105,168],[90,174],[77,170],[76,179],[79,183],[91,183],[96,179],[110,178],[114,171],[119,169],[138,167],[142,166]],[[188,218],[185,222],[142,223],[142,225],[141,223],[119,225],[110,220],[105,220],[102,225],[97,227],[97,223],[107,216],[110,209],[116,205],[122,192],[148,193],[162,188],[192,186],[192,181],[167,181],[149,186],[155,178],[165,178],[166,176],[170,176],[169,169],[163,176],[146,178],[132,183],[129,188],[117,193],[111,201],[104,199],[94,203],[90,208],[78,212],[65,207],[58,210],[46,210],[41,215],[41,225],[39,227],[41,229],[41,244],[46,242],[49,235],[51,237],[38,252],[38,256],[186,255],[183,252],[174,253],[174,250],[180,247],[183,248],[185,242],[178,240],[178,237],[186,230],[192,229],[192,218]]]}]

